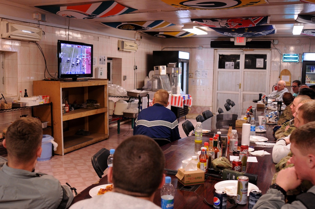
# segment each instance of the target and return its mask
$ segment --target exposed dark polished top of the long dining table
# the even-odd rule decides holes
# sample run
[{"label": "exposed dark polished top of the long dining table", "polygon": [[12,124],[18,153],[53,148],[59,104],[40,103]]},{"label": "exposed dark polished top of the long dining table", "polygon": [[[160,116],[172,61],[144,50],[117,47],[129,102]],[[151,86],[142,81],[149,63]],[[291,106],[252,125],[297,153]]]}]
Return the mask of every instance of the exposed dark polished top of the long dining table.
[{"label": "exposed dark polished top of the long dining table", "polygon": [[[213,116],[212,118],[207,119],[203,122],[203,129],[212,130],[213,133],[216,130],[220,130],[222,134],[227,133],[227,129],[229,123],[234,124],[235,126],[235,118],[237,118],[237,114],[233,113],[221,113]],[[234,123],[233,123],[234,121]],[[269,129],[268,129],[269,128]],[[239,145],[241,143],[241,128],[236,127],[239,133]],[[269,140],[274,140],[272,134],[270,134],[272,128],[267,127],[267,132],[264,133],[264,137],[267,137]],[[203,142],[209,141],[209,135],[203,135]],[[269,153],[272,153],[272,146],[258,146],[255,143],[250,143],[249,146],[253,147],[255,150],[264,150]],[[161,147],[165,154],[165,168],[170,170],[177,170],[182,168],[182,160],[186,160],[191,158],[195,153],[195,142],[194,136],[188,136],[182,138],[180,140],[173,141],[167,145]],[[231,153],[231,155],[236,155]],[[249,156],[252,156],[249,154]],[[247,173],[257,174],[257,187],[262,191],[262,194],[265,194],[271,185],[272,177],[275,173],[274,163],[272,162],[272,155],[264,155],[264,156],[255,156],[258,162],[248,162]],[[213,176],[205,176],[204,184],[193,185],[193,186],[183,186],[175,175],[167,174],[167,171],[164,173],[171,177],[171,182],[175,187],[175,198],[174,198],[174,208],[207,208],[211,207],[213,204],[213,197],[215,193],[214,185],[222,179],[213,177]],[[208,171],[208,173],[219,174],[219,172],[215,172],[213,170]],[[104,176],[99,180],[99,182],[89,186],[77,196],[74,197],[73,203],[91,198],[89,195],[89,190],[94,188],[95,186],[99,186],[102,184],[107,184],[107,176]],[[229,197],[228,199],[231,199]],[[160,190],[158,189],[155,193],[154,203],[158,206],[161,205],[161,197]],[[227,202],[227,208],[233,206],[229,201]],[[238,205],[238,208],[247,208],[246,205]]]}]

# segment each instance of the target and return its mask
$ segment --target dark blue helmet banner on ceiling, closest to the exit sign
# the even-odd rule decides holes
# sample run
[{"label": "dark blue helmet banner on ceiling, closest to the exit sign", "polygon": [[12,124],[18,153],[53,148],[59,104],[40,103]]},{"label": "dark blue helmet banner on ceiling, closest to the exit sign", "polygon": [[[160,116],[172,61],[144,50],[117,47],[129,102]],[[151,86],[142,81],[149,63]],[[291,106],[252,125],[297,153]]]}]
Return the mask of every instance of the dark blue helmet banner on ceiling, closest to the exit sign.
[{"label": "dark blue helmet banner on ceiling, closest to the exit sign", "polygon": [[247,28],[211,28],[216,32],[230,37],[257,37],[275,34],[273,25],[259,25]]}]

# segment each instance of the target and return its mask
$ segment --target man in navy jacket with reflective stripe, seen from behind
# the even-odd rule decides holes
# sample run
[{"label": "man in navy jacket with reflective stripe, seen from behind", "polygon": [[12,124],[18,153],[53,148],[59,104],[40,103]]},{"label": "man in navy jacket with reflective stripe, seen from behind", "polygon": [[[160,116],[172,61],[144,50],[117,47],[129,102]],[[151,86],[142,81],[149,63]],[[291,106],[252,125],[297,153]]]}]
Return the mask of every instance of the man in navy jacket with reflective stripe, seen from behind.
[{"label": "man in navy jacket with reflective stripe, seen from behind", "polygon": [[170,141],[180,139],[178,121],[175,114],[166,108],[169,105],[169,92],[160,89],[155,92],[153,106],[140,111],[134,127],[134,135],[146,135]]}]

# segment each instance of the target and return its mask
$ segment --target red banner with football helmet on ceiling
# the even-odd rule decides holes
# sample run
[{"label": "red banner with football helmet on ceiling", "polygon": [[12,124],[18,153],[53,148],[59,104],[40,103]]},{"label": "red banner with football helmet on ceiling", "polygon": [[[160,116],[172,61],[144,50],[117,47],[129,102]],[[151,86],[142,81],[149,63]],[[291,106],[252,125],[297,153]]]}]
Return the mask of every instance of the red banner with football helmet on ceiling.
[{"label": "red banner with football helmet on ceiling", "polygon": [[246,18],[210,18],[210,19],[191,19],[196,23],[214,28],[244,28],[263,25],[269,23],[269,17],[246,17]]}]

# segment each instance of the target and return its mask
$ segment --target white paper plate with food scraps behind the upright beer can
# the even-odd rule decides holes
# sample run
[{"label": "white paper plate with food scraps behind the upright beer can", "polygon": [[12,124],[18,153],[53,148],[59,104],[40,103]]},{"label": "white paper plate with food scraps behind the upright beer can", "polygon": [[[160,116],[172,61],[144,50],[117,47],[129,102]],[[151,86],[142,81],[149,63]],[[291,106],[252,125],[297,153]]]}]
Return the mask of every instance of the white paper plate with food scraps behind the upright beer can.
[{"label": "white paper plate with food scraps behind the upright beer can", "polygon": [[[215,184],[216,190],[224,190],[229,196],[237,195],[237,180],[226,180],[220,181]],[[247,196],[249,196],[250,190],[259,190],[255,184],[248,183],[248,192]]]}]

